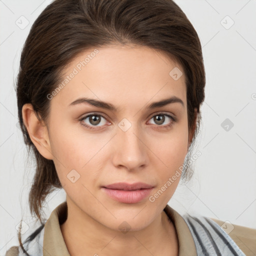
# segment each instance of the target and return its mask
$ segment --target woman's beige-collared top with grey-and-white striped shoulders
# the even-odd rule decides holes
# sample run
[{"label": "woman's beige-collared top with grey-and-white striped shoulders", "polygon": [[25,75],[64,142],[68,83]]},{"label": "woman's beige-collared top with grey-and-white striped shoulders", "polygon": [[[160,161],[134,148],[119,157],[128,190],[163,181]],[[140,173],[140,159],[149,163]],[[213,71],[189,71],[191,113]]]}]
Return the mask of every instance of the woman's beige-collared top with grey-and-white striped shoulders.
[{"label": "woman's beige-collared top with grey-and-white striped shoulders", "polygon": [[[245,254],[231,239],[233,232],[236,238],[242,237],[244,246],[241,248],[246,255],[255,255],[256,229],[233,225],[234,229],[229,235],[219,226],[224,221],[214,220],[200,215],[191,216],[184,214],[181,216],[169,205],[164,208],[167,216],[173,222],[177,237],[179,256],[194,255],[239,255]],[[31,256],[70,256],[61,230],[60,225],[66,220],[67,204],[66,201],[59,204],[50,214],[44,225],[41,225],[34,231],[34,239],[30,242],[23,242],[23,246]],[[238,230],[238,232],[237,232]],[[247,235],[249,232],[249,236]],[[254,246],[254,247],[253,247]],[[20,246],[12,246],[5,256],[21,256],[22,249]],[[247,254],[251,253],[251,254]]]}]

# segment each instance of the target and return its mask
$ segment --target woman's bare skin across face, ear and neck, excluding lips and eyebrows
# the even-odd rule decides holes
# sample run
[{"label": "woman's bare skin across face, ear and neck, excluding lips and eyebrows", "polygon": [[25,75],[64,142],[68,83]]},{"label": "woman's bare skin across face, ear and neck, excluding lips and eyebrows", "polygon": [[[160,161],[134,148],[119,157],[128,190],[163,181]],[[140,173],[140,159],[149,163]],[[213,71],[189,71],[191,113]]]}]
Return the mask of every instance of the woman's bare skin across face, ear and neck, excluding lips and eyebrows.
[{"label": "woman's bare skin across face, ear and neck, excluding lips and eyebrows", "polygon": [[[182,165],[192,132],[188,130],[186,87],[181,66],[163,53],[148,47],[108,45],[52,98],[47,120],[36,118],[31,104],[22,108],[29,136],[41,155],[52,159],[66,192],[68,216],[61,225],[67,249],[76,255],[178,255],[173,223],[163,208],[173,195],[179,177],[157,198],[123,203],[101,188],[115,182],[152,184],[155,194]],[[93,49],[73,59],[64,75]],[[183,75],[174,80],[169,72],[178,67]],[[77,68],[76,68],[77,69]],[[146,105],[170,96],[179,102],[155,109]],[[69,105],[84,96],[113,104],[116,112],[85,103]],[[88,114],[103,114],[99,124]],[[170,114],[160,122],[157,113]],[[100,118],[100,117],[99,117]],[[131,127],[118,123],[126,118]],[[93,129],[82,125],[86,123]],[[170,127],[163,127],[171,123]],[[73,183],[67,175],[75,169],[80,177]],[[119,225],[126,221],[129,231]]]}]

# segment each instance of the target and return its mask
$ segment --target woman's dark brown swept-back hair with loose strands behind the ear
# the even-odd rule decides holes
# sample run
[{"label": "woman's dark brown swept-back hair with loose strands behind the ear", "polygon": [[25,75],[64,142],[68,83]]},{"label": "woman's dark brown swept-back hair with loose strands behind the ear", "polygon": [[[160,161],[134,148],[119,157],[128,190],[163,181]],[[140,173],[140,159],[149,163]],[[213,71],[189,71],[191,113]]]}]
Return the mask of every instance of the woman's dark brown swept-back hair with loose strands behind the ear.
[{"label": "woman's dark brown swept-back hair with loose strands behind the ear", "polygon": [[[45,197],[61,184],[53,161],[40,155],[30,140],[22,106],[31,103],[38,119],[46,120],[50,105],[47,94],[59,84],[67,64],[86,49],[117,43],[159,50],[182,66],[188,130],[194,130],[189,149],[193,145],[201,118],[199,106],[204,100],[205,71],[198,35],[178,5],[172,0],[54,0],[30,29],[16,83],[20,127],[37,164],[29,208],[40,221]],[[196,123],[194,109],[198,113]],[[181,178],[189,175],[184,168]]]}]

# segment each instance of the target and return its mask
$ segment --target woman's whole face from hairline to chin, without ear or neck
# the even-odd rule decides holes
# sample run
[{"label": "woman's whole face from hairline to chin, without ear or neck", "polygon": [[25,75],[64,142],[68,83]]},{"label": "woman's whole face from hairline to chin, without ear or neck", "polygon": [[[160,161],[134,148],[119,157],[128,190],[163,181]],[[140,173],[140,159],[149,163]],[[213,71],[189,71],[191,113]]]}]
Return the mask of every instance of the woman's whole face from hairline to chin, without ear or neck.
[{"label": "woman's whole face from hairline to chin, without ear or neck", "polygon": [[169,73],[184,72],[148,47],[93,50],[69,63],[60,90],[49,95],[52,159],[75,214],[138,230],[160,214],[180,178],[188,148],[185,77]]}]

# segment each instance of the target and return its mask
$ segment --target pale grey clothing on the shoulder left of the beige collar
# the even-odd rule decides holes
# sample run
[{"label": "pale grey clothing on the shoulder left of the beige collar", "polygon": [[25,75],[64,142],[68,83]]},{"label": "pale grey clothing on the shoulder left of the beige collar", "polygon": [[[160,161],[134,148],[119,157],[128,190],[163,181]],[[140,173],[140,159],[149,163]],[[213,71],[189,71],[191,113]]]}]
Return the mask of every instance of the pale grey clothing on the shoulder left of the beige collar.
[{"label": "pale grey clothing on the shoulder left of the beige collar", "polygon": [[[41,224],[36,230],[34,230],[24,241],[22,241],[23,249],[29,256],[42,255],[44,224]],[[20,245],[10,247],[5,256],[21,256],[25,255],[24,250]]]}]

